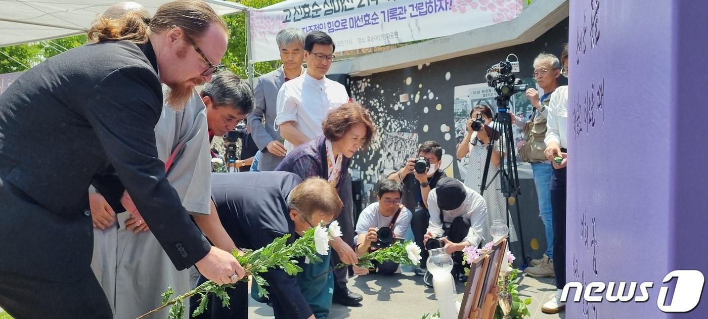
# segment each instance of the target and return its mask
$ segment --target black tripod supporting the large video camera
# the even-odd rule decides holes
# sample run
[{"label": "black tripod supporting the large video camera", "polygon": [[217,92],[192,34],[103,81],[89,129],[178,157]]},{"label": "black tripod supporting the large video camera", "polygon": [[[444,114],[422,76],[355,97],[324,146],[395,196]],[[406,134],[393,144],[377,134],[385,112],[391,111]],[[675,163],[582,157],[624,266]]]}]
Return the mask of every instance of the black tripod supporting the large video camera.
[{"label": "black tripod supporting the large video camera", "polygon": [[[482,175],[482,182],[480,188],[480,195],[484,195],[484,190],[489,189],[494,179],[499,176],[499,182],[501,184],[501,193],[506,197],[506,226],[509,227],[510,221],[510,206],[516,207],[516,217],[521,221],[521,211],[519,205],[517,204],[516,197],[521,194],[519,187],[519,173],[516,167],[516,147],[514,144],[514,133],[513,126],[511,124],[511,115],[509,110],[509,98],[510,95],[498,95],[496,98],[497,112],[494,115],[493,133],[489,138],[489,144],[487,144],[487,156],[484,161],[484,173]],[[484,127],[482,128],[484,129]],[[495,140],[499,139],[498,150],[500,151],[499,156],[499,167],[491,178],[491,182],[487,185],[487,175],[489,174],[489,163],[491,163],[491,155],[494,150]],[[519,229],[519,236],[521,240],[521,257],[526,262],[526,250],[524,248],[524,236],[521,227]],[[509,230],[511,228],[509,227]]]}]

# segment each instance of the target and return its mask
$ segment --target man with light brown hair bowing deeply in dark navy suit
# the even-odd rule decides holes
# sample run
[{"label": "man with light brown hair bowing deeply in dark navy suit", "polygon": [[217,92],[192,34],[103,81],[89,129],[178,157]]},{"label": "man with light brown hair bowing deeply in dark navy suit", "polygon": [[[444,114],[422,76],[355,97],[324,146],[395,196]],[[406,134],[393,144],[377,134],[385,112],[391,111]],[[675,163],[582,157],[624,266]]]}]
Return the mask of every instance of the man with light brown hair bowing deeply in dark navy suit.
[{"label": "man with light brown hair bowing deeply in dark navy suit", "polygon": [[[287,172],[212,174],[212,211],[218,212],[217,219],[238,248],[262,248],[285,234],[290,234],[287,243],[292,243],[310,227],[335,220],[342,205],[337,190],[321,178],[302,181]],[[263,273],[276,319],[327,317],[332,303],[329,287],[333,274],[328,272],[331,254],[319,257],[321,262],[299,258],[297,265],[303,271],[294,276],[282,269]],[[199,284],[205,281],[202,277]],[[248,289],[248,282],[227,289],[229,307],[212,296],[205,313],[196,318],[248,318]],[[188,312],[192,313],[200,301],[200,296],[194,296]]]}]

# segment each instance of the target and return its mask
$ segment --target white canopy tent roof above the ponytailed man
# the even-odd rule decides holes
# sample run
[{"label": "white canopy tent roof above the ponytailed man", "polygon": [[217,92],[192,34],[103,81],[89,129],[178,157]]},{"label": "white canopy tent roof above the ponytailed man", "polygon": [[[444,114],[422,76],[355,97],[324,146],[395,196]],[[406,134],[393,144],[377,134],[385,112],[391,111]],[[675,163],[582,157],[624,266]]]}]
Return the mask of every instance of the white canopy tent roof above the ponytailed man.
[{"label": "white canopy tent roof above the ponytailed man", "polygon": [[[205,0],[219,15],[248,11],[224,0]],[[96,14],[117,0],[0,0],[0,47],[86,33]],[[137,0],[151,14],[169,0]]]}]

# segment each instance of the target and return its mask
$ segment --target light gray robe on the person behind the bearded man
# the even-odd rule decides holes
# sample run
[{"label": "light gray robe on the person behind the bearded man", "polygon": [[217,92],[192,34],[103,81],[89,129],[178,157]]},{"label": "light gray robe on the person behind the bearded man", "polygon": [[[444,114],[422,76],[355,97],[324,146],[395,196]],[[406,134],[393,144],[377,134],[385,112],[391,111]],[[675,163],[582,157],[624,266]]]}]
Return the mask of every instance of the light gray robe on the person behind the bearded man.
[{"label": "light gray robe on the person behind the bearded man", "polygon": [[[183,112],[164,105],[155,126],[158,157],[166,162],[180,145],[167,172],[182,204],[192,214],[209,214],[211,156],[206,109],[195,91]],[[178,296],[190,291],[189,269],[177,271],[152,231],[125,229],[130,214],[123,212],[116,224],[94,228],[91,268],[101,283],[116,319],[135,319],[161,306],[161,294],[171,285]],[[153,315],[166,318],[169,308]],[[188,318],[185,311],[184,318]]]}]

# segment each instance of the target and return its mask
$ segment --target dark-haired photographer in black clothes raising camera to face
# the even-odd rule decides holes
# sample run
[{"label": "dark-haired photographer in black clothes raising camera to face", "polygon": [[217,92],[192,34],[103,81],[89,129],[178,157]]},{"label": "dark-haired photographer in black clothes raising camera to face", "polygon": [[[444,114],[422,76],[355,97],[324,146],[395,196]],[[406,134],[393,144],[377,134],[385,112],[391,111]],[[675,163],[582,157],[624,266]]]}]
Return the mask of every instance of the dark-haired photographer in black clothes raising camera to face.
[{"label": "dark-haired photographer in black clothes raising camera to face", "polygon": [[[413,211],[411,231],[418,247],[423,247],[423,235],[428,228],[428,193],[435,188],[440,178],[445,178],[445,172],[440,170],[442,146],[436,141],[425,141],[418,148],[418,158],[409,158],[406,166],[389,175],[390,180],[403,183],[401,202]],[[427,165],[426,165],[427,164]],[[428,252],[421,253],[421,266],[416,268],[418,275],[426,273]]]}]

